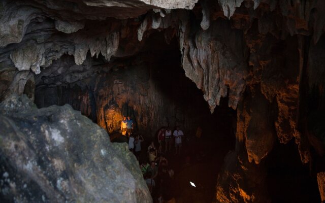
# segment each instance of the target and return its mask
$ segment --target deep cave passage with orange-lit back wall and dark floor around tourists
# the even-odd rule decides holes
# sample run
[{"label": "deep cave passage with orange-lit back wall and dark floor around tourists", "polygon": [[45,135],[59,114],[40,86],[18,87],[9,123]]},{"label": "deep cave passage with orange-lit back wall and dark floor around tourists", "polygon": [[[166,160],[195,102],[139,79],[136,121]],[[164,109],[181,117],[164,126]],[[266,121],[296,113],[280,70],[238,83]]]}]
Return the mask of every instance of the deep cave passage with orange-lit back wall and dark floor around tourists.
[{"label": "deep cave passage with orange-lit back wall and dark floor around tourists", "polygon": [[[145,140],[140,163],[147,159],[150,143],[158,145],[161,127],[173,132],[179,126],[185,134],[181,155],[174,155],[174,144],[165,154],[175,172],[170,194],[185,202],[211,202],[223,157],[235,147],[237,113],[224,98],[211,114],[202,91],[185,76],[180,63],[176,39],[168,45],[163,33],[153,34],[141,53],[110,62],[88,53],[86,62],[76,65],[72,56],[63,55],[50,74],[44,70],[36,77],[35,103],[39,108],[70,104],[106,129],[112,142],[127,143],[120,122],[122,116],[130,116],[134,133]],[[195,136],[198,127],[201,138]]]}]

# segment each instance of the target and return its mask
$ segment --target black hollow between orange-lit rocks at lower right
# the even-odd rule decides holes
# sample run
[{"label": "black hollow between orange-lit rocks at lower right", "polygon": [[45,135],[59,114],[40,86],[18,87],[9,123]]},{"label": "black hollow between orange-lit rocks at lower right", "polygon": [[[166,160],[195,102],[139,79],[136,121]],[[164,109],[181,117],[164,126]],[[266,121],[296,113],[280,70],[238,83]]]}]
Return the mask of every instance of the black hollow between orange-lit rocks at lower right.
[{"label": "black hollow between orange-lit rocks at lower right", "polygon": [[303,164],[294,139],[277,141],[266,158],[267,183],[272,202],[320,202],[316,176]]}]

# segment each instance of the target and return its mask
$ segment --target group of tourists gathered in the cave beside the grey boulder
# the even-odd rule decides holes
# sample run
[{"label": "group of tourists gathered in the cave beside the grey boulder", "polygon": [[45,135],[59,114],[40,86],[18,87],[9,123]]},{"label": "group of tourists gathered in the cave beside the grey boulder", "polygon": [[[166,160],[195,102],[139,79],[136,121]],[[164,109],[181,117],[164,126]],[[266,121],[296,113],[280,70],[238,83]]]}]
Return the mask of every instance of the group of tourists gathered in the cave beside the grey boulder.
[{"label": "group of tourists gathered in the cave beside the grey boulder", "polygon": [[154,142],[151,142],[148,146],[147,156],[140,158],[141,144],[144,142],[144,138],[142,135],[135,135],[133,128],[133,120],[129,116],[124,116],[121,122],[122,135],[127,135],[128,148],[140,162],[143,177],[153,199],[155,202],[174,202],[175,199],[171,196],[174,171],[169,167],[164,154],[172,152],[174,144],[174,155],[180,155],[183,131],[178,126],[173,133],[169,127],[161,127],[157,133],[158,148],[155,147]]}]

